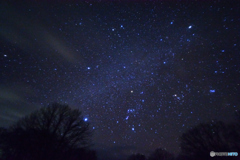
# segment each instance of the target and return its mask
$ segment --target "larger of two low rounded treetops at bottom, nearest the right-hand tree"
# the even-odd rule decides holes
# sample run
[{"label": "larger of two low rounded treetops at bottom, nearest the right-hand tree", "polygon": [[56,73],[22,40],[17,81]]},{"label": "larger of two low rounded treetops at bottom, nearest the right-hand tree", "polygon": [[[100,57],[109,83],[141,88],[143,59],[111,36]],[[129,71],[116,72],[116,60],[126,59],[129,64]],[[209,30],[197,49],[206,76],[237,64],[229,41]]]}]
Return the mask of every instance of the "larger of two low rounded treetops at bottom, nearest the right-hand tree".
[{"label": "larger of two low rounded treetops at bottom, nearest the right-hand tree", "polygon": [[158,148],[149,156],[148,160],[174,160],[174,156],[168,151]]}]

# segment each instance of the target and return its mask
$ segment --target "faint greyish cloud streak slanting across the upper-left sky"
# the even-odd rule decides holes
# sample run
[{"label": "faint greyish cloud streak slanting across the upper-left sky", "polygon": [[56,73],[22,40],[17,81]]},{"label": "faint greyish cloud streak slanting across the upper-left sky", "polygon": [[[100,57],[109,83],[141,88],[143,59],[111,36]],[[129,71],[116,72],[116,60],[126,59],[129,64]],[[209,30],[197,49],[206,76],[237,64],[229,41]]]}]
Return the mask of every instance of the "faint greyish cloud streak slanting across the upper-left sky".
[{"label": "faint greyish cloud streak slanting across the upper-left sky", "polygon": [[36,53],[37,48],[44,48],[41,51],[44,56],[54,55],[67,62],[79,62],[77,52],[59,38],[61,36],[59,33],[49,32],[47,29],[49,27],[44,26],[43,22],[33,21],[33,18],[8,4],[0,6],[0,10],[4,13],[0,18],[5,21],[1,25],[0,36],[6,41],[24,51]]}]

